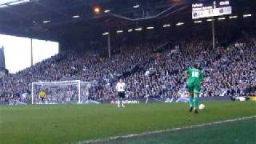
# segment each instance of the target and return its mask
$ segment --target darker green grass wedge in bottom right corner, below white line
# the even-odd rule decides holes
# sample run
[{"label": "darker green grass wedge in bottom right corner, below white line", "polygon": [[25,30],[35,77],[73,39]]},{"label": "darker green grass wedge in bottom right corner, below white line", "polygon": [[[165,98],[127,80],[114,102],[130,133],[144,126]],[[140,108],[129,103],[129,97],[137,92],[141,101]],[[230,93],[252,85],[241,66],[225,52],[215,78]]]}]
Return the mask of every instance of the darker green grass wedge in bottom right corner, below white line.
[{"label": "darker green grass wedge in bottom right corner, below white line", "polygon": [[151,134],[148,136],[126,138],[105,142],[105,144],[255,144],[256,118],[238,122],[222,123],[214,126],[203,126],[193,129]]}]

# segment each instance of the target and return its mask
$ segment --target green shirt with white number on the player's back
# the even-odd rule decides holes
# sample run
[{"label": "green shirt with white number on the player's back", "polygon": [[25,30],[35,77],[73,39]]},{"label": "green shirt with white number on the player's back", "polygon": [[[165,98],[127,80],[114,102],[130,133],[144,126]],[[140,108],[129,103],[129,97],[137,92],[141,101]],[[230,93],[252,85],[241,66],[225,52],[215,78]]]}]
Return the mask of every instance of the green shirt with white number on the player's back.
[{"label": "green shirt with white number on the player's back", "polygon": [[189,70],[187,70],[187,74],[189,74],[189,83],[196,82],[200,84],[205,76],[202,70],[198,70],[195,68],[190,68]]}]

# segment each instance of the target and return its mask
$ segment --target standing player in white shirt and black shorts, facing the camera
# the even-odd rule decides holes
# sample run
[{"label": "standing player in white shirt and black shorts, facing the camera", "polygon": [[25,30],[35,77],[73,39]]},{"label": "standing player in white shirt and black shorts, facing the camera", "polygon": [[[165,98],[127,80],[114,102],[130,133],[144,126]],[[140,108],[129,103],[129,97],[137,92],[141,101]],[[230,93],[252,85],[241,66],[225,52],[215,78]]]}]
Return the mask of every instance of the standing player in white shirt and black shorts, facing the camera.
[{"label": "standing player in white shirt and black shorts, facing the camera", "polygon": [[122,102],[122,98],[125,98],[126,83],[122,82],[122,78],[120,78],[115,89],[118,91],[118,107],[120,107],[120,103],[122,107],[125,107]]}]

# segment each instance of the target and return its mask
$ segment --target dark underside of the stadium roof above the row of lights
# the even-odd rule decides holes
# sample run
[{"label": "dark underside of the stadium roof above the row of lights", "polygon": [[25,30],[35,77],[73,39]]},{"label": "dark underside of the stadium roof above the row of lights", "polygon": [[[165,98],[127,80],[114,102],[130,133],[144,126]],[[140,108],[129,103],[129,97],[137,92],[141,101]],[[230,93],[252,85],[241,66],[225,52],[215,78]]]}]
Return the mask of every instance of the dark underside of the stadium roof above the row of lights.
[{"label": "dark underside of the stadium roof above the row of lights", "polygon": [[[202,0],[201,0],[202,1]],[[233,0],[234,14],[256,14],[254,0]],[[191,0],[1,0],[0,33],[58,39],[156,20],[191,20]],[[153,23],[154,24],[154,23]]]}]

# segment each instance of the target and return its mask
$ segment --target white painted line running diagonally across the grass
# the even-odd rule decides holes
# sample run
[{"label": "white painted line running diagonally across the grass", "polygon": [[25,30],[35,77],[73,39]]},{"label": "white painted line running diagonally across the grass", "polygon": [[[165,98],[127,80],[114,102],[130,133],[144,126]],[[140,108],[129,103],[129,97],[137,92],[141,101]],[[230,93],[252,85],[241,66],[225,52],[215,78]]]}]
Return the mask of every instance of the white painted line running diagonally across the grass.
[{"label": "white painted line running diagonally across the grass", "polygon": [[114,141],[114,140],[117,140],[117,139],[141,137],[141,136],[146,136],[146,135],[150,135],[150,134],[161,134],[161,133],[170,132],[170,131],[192,129],[192,128],[195,128],[195,127],[212,126],[212,125],[222,124],[222,123],[226,123],[226,122],[238,122],[238,121],[242,121],[242,120],[245,120],[245,119],[251,119],[251,118],[256,118],[256,115],[253,115],[253,116],[250,116],[250,117],[227,119],[227,120],[217,121],[217,122],[202,123],[202,124],[192,125],[192,126],[184,126],[184,127],[172,128],[172,129],[167,129],[167,130],[155,130],[155,131],[145,132],[145,133],[142,133],[142,134],[127,134],[127,135],[115,136],[115,137],[104,138],[104,139],[96,139],[96,140],[90,140],[90,141],[74,142],[74,144],[110,142],[110,141]]}]

